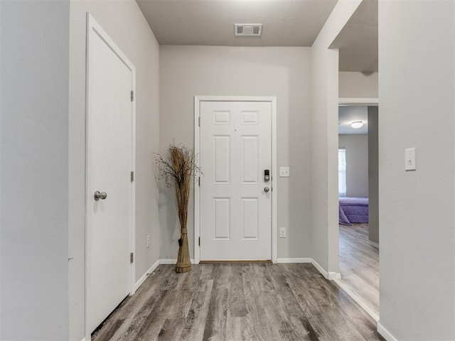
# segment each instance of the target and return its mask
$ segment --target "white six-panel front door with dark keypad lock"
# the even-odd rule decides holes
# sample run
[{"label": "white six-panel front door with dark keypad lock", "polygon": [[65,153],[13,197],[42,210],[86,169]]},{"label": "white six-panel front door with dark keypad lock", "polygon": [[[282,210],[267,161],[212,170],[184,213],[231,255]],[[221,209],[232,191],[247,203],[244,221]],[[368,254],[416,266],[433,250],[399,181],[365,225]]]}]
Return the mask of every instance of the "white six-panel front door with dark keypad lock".
[{"label": "white six-panel front door with dark keypad lock", "polygon": [[200,260],[272,259],[271,135],[271,102],[200,102]]}]

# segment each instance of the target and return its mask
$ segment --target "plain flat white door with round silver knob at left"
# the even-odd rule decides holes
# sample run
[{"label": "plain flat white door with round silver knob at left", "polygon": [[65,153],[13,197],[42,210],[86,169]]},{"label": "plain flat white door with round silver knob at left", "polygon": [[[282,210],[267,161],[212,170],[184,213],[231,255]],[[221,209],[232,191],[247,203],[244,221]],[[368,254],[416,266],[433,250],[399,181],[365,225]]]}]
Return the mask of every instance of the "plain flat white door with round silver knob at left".
[{"label": "plain flat white door with round silver knob at left", "polygon": [[[87,73],[87,328],[131,290],[134,67],[96,23]],[[95,200],[94,193],[106,193]]]}]

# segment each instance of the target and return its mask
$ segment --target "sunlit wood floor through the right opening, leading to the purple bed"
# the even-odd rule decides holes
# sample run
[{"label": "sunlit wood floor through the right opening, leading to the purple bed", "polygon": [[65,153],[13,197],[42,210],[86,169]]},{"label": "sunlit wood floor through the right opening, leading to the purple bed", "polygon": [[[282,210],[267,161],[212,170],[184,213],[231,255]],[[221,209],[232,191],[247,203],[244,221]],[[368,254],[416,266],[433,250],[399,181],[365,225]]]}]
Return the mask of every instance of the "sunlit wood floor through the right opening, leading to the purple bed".
[{"label": "sunlit wood floor through the right opening, leading to the purple bed", "polygon": [[367,241],[368,224],[340,225],[338,283],[379,317],[379,250]]}]

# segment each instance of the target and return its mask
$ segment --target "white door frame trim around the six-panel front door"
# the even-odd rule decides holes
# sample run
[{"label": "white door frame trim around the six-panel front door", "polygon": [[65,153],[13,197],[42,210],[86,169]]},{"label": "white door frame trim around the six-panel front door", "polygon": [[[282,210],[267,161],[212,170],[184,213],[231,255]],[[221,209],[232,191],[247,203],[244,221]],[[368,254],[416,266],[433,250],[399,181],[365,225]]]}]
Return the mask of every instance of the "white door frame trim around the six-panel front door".
[{"label": "white door frame trim around the six-panel front door", "polygon": [[[277,97],[276,96],[195,96],[194,97],[194,151],[200,153],[200,102],[270,102],[272,104],[272,262],[277,263]],[[197,158],[200,166],[200,158]],[[200,188],[194,186],[194,262],[200,262]]]}]

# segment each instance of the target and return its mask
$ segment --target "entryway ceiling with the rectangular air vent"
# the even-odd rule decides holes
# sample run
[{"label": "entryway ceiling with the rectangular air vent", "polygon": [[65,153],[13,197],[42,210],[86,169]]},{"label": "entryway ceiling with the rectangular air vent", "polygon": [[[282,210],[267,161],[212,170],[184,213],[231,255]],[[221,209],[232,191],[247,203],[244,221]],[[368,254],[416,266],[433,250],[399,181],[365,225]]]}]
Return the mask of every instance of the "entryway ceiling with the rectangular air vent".
[{"label": "entryway ceiling with the rectangular air vent", "polygon": [[[311,46],[337,0],[137,0],[161,45]],[[234,23],[262,23],[235,37]]]}]

